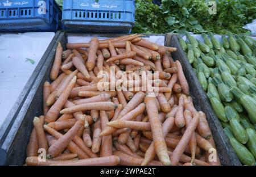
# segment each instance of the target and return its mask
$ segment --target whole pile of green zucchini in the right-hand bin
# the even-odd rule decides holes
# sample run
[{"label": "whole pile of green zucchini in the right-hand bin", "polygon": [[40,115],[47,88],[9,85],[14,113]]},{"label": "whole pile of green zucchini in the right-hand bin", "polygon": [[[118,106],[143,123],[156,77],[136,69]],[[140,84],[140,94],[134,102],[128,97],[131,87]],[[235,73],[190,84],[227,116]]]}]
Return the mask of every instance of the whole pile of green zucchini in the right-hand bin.
[{"label": "whole pile of green zucchini in the right-hand bin", "polygon": [[244,165],[256,159],[256,40],[249,36],[201,36],[204,43],[186,33],[179,37],[230,144]]}]

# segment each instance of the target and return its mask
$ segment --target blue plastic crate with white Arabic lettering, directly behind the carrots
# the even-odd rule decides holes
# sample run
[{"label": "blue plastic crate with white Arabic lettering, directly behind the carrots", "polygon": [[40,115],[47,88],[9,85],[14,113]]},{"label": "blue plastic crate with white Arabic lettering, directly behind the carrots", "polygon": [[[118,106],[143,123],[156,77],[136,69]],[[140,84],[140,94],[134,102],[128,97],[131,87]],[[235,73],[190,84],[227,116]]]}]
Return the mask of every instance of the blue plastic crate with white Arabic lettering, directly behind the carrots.
[{"label": "blue plastic crate with white Arabic lettering, directly behind the carrots", "polygon": [[61,22],[73,31],[130,33],[135,0],[64,0]]}]

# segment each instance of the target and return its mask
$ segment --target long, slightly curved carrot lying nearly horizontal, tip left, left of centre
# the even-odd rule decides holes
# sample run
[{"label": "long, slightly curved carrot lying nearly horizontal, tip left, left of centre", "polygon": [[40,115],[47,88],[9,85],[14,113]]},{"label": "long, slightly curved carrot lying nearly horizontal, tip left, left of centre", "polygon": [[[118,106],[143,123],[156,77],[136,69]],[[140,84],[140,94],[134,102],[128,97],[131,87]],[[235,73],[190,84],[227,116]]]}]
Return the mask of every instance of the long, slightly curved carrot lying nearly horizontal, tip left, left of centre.
[{"label": "long, slightly curved carrot lying nearly horizontal, tip left, left of centre", "polygon": [[77,111],[87,111],[87,110],[99,110],[99,111],[111,111],[114,110],[115,105],[112,102],[94,102],[94,103],[85,103],[73,106],[71,108],[65,108],[60,111],[60,113],[73,113]]}]

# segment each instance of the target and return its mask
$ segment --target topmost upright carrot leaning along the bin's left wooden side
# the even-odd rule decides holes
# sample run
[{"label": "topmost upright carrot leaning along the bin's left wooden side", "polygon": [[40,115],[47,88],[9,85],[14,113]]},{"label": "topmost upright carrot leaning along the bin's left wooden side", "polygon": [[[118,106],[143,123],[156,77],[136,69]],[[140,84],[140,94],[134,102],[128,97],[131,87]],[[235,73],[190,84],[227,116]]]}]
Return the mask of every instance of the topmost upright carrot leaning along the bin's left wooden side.
[{"label": "topmost upright carrot leaning along the bin's left wooden side", "polygon": [[60,71],[60,65],[61,65],[61,55],[63,52],[63,48],[61,47],[60,42],[58,42],[58,46],[56,48],[56,54],[55,54],[55,59],[53,61],[51,73],[50,73],[50,78],[52,81],[54,81],[59,74]]}]

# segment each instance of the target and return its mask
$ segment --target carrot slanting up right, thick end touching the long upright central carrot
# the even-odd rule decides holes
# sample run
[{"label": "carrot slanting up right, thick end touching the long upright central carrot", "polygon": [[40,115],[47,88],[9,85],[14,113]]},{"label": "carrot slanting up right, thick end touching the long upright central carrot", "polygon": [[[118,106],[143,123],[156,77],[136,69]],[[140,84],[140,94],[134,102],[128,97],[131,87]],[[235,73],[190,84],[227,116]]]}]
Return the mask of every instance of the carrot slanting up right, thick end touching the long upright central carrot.
[{"label": "carrot slanting up right, thick end touching the long upright central carrot", "polygon": [[138,92],[133,96],[133,98],[130,100],[130,102],[123,107],[122,111],[119,113],[118,118],[123,117],[126,115],[129,111],[136,108],[139,104],[141,104],[145,98],[145,94],[143,92]]}]

